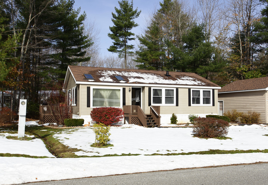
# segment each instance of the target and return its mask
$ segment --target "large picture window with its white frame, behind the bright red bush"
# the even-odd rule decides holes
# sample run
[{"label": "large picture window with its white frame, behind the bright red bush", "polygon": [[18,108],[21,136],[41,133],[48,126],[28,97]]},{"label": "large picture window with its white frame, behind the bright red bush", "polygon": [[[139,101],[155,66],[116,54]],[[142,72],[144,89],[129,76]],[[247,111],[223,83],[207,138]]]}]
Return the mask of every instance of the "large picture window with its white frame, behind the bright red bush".
[{"label": "large picture window with its white frame, behind the bright red bush", "polygon": [[123,107],[122,87],[90,87],[90,107]]}]

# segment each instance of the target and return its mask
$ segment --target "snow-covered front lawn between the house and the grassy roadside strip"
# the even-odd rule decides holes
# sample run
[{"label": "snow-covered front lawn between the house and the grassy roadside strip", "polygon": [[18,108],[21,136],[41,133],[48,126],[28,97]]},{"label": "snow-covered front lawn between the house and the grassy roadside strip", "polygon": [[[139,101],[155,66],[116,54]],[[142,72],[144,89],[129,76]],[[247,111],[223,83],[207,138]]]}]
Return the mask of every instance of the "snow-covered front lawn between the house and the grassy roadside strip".
[{"label": "snow-covered front lawn between the house and the grassy roadside strip", "polygon": [[200,139],[192,137],[192,128],[129,128],[111,127],[110,144],[113,147],[95,148],[92,128],[63,129],[54,134],[64,145],[81,149],[76,155],[103,156],[106,154],[167,154],[213,150],[263,150],[268,149],[268,127],[265,125],[230,126],[228,137],[232,139]]}]

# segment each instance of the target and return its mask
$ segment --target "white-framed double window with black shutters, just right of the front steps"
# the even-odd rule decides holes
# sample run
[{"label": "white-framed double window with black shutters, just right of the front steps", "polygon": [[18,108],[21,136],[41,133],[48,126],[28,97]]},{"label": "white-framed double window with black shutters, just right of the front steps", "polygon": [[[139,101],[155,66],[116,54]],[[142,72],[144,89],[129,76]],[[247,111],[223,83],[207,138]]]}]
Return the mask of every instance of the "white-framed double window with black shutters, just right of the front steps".
[{"label": "white-framed double window with black shutters, just right of the front steps", "polygon": [[175,106],[175,88],[152,88],[152,105]]}]

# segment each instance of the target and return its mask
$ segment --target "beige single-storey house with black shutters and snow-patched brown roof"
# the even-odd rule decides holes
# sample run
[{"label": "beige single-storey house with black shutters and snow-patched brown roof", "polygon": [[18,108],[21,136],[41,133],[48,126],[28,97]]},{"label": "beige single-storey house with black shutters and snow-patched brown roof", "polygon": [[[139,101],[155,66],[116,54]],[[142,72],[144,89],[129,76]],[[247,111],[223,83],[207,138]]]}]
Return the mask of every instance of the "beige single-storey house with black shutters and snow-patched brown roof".
[{"label": "beige single-storey house with black shutters and snow-patched brown roof", "polygon": [[170,123],[172,113],[178,123],[189,123],[189,114],[218,114],[220,88],[195,73],[85,66],[68,66],[63,86],[72,117],[85,124],[92,108],[112,106],[124,110],[127,123],[145,127]]}]

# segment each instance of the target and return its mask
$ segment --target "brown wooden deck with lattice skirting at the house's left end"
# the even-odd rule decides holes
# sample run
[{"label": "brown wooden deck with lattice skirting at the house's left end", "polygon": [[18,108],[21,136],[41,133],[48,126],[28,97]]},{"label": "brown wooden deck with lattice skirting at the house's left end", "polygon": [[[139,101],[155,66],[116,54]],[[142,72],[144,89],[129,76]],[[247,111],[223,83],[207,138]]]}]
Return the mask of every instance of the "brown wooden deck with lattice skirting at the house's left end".
[{"label": "brown wooden deck with lattice skirting at the house's left end", "polygon": [[[64,107],[59,107],[63,109]],[[72,106],[70,106],[70,113],[68,114],[69,118],[72,118]],[[55,120],[51,114],[50,106],[48,105],[40,105],[39,106],[39,120],[42,124],[44,123],[55,123]]]}]

